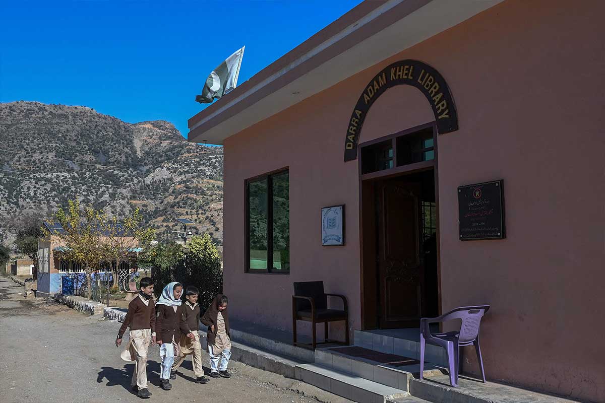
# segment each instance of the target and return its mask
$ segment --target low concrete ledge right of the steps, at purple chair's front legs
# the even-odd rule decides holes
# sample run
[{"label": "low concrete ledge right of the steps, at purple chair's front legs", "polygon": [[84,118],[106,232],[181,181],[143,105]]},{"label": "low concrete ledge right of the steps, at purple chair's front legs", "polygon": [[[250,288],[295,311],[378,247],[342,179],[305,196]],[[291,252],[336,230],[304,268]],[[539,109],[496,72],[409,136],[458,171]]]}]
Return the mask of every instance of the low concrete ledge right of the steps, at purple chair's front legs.
[{"label": "low concrete ledge right of the steps, at purple chair's front legs", "polygon": [[533,392],[495,382],[483,383],[460,375],[458,387],[450,386],[448,375],[411,379],[410,394],[433,403],[572,403],[574,400]]}]

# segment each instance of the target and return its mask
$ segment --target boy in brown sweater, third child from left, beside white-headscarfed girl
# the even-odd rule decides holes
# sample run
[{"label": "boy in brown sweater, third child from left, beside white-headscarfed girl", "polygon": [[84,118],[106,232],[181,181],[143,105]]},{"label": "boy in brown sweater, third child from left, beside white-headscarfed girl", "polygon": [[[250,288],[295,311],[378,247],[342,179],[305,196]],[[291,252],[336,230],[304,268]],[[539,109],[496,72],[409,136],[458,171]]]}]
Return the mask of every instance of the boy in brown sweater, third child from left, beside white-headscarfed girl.
[{"label": "boy in brown sweater, third child from left, beside white-headscarfed girl", "polygon": [[198,329],[200,328],[200,306],[197,303],[199,295],[200,291],[195,286],[190,285],[185,289],[187,300],[185,301],[185,305],[183,305],[183,316],[180,323],[181,338],[178,343],[180,355],[174,359],[170,379],[176,378],[177,368],[185,361],[185,356],[191,354],[195,382],[205,384],[209,379],[204,376],[204,370],[201,365],[201,343],[200,334],[198,333]]}]

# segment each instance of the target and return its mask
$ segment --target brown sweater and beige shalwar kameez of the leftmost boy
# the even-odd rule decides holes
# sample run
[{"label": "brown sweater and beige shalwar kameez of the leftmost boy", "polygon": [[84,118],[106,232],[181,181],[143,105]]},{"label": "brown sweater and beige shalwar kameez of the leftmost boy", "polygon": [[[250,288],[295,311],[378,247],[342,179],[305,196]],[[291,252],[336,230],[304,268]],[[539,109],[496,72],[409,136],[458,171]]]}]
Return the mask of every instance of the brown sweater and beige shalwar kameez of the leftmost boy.
[{"label": "brown sweater and beige shalwar kameez of the leftmost boy", "polygon": [[146,298],[142,293],[128,304],[128,312],[124,322],[118,331],[118,337],[122,338],[126,328],[129,341],[120,354],[124,361],[134,361],[134,372],[132,373],[131,386],[139,389],[147,387],[147,353],[151,337],[155,336],[155,304],[151,298]]}]

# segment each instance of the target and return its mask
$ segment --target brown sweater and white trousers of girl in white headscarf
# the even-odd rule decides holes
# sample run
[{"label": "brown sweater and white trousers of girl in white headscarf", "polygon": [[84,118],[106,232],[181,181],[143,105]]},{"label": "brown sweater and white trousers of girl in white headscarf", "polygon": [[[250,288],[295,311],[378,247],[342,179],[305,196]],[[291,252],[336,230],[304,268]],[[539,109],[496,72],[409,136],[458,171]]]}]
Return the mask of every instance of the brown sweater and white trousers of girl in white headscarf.
[{"label": "brown sweater and white trousers of girl in white headscarf", "polygon": [[158,340],[162,340],[160,346],[160,358],[162,358],[160,379],[169,379],[174,357],[180,355],[178,340],[181,337],[180,321],[183,316],[183,307],[162,305],[159,302],[156,308],[155,328],[157,329]]}]

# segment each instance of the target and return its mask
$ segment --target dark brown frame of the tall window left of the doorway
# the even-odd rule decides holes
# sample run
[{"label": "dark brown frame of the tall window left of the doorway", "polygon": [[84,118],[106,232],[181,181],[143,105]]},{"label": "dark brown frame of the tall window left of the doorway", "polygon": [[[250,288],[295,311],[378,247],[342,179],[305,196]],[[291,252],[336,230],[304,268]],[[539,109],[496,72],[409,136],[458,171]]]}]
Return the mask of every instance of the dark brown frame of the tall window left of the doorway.
[{"label": "dark brown frame of the tall window left of the doorway", "polygon": [[[273,271],[273,176],[288,173],[290,181],[290,167],[283,167],[262,175],[253,176],[244,181],[244,272],[249,274],[290,274],[290,268]],[[250,183],[267,179],[267,268],[250,268]],[[290,191],[288,191],[288,204],[290,204]]]}]

